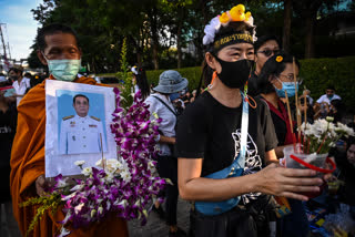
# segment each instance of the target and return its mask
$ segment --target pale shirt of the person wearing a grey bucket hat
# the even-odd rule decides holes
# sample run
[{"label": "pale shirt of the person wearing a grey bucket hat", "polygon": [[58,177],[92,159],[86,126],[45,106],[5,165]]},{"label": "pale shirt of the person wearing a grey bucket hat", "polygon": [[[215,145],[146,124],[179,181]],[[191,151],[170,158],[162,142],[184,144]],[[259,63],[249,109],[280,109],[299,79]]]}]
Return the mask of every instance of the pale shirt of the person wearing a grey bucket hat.
[{"label": "pale shirt of the person wearing a grey bucket hat", "polygon": [[[159,117],[162,118],[162,122],[159,125],[159,131],[162,133],[163,136],[175,137],[175,124],[176,124],[176,116],[158,99],[161,99],[165,102],[173,111],[175,111],[174,105],[171,103],[170,99],[165,95],[155,93],[151,94],[144,101],[145,104],[149,104],[149,112],[151,113],[150,120],[155,120],[153,113],[155,112]],[[158,147],[160,150],[159,155],[161,156],[169,156],[171,155],[171,151],[166,143],[158,143]]]}]

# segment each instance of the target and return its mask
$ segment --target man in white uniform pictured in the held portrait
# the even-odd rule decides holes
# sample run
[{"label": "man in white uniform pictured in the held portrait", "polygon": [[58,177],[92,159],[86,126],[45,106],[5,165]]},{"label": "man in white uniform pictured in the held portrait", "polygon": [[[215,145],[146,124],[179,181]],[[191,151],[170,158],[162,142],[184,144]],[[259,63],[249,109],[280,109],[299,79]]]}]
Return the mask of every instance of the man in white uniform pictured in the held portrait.
[{"label": "man in white uniform pictured in the held portrait", "polygon": [[89,115],[89,97],[77,94],[72,106],[77,114],[61,118],[59,154],[106,152],[102,122]]}]

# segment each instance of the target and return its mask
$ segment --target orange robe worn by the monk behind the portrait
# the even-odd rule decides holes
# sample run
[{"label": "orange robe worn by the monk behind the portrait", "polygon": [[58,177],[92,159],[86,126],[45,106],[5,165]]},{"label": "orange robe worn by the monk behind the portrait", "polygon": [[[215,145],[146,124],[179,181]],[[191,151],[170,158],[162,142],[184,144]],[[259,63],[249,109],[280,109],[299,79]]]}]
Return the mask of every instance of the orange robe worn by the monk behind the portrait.
[{"label": "orange robe worn by the monk behind the portrait", "polygon": [[[93,79],[80,78],[74,82],[95,85]],[[22,235],[28,230],[37,213],[34,206],[20,207],[30,197],[37,196],[36,179],[44,174],[44,134],[45,134],[45,81],[31,89],[18,106],[18,128],[11,153],[10,186],[13,214]],[[30,236],[52,237],[59,234],[64,214],[54,216],[45,213]],[[115,216],[88,228],[72,229],[70,236],[128,236],[125,220]]]}]

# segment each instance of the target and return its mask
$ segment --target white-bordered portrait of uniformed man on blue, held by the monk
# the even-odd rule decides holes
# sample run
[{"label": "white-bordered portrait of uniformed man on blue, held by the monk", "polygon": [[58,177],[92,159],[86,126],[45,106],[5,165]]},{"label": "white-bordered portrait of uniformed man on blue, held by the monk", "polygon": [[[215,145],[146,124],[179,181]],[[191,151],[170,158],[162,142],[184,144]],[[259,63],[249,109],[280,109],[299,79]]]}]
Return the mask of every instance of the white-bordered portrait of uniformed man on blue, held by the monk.
[{"label": "white-bordered portrait of uniformed man on blue, held by the monk", "polygon": [[48,80],[45,82],[45,177],[81,174],[77,161],[94,166],[115,158],[110,124],[115,109],[112,87]]}]

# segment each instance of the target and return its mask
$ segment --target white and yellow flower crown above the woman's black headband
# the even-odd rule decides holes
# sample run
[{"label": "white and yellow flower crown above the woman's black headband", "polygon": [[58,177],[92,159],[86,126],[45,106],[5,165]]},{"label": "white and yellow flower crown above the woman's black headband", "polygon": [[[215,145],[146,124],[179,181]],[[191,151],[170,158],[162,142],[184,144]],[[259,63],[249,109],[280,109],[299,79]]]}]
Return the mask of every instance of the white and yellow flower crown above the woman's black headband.
[{"label": "white and yellow flower crown above the woman's black headband", "polygon": [[[244,4],[237,4],[233,7],[230,11],[223,12],[221,16],[213,18],[210,23],[204,28],[205,35],[203,37],[203,44],[209,45],[214,42],[215,33],[219,32],[221,25],[225,27],[232,21],[244,21],[251,27],[254,27],[254,19],[252,13],[245,12]],[[253,30],[253,42],[256,41],[255,29]]]}]

